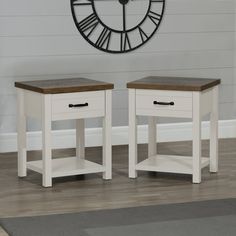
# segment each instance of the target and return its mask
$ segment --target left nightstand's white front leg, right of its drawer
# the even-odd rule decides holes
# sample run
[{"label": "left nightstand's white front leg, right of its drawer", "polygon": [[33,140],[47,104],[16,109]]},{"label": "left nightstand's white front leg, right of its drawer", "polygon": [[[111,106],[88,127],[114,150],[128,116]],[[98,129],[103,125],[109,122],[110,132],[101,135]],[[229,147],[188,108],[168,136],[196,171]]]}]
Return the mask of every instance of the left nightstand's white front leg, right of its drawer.
[{"label": "left nightstand's white front leg, right of its drawer", "polygon": [[105,91],[105,117],[103,118],[103,166],[105,172],[103,179],[112,178],[112,146],[111,146],[111,125],[112,125],[112,93],[111,90]]}]

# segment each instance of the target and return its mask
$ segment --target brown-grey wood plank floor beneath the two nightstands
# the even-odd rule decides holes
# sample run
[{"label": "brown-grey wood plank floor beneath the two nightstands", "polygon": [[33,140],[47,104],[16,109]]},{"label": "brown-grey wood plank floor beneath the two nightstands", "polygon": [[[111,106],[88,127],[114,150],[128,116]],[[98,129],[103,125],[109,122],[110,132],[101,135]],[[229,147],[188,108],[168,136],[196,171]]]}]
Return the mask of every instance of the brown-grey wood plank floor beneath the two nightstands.
[{"label": "brown-grey wood plank floor beneath the two nightstands", "polygon": [[[209,153],[203,142],[203,155]],[[236,139],[220,140],[219,173],[203,170],[203,182],[191,183],[191,176],[139,172],[129,179],[128,147],[113,147],[113,180],[101,174],[57,178],[53,188],[41,187],[41,175],[28,171],[17,177],[16,153],[0,154],[0,217],[31,216],[97,209],[121,208],[236,197]],[[74,155],[75,150],[54,151],[54,157]],[[191,142],[158,144],[162,154],[191,155]],[[40,158],[29,152],[29,159]],[[101,162],[101,148],[86,149],[87,159]],[[147,145],[139,145],[139,160],[145,159]]]}]

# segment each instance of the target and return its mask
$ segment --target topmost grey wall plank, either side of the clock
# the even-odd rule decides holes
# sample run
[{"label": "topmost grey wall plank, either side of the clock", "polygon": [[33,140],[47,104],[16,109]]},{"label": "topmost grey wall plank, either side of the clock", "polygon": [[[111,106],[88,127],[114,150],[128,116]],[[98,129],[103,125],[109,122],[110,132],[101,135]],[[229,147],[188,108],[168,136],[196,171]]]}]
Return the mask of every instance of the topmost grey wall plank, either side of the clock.
[{"label": "topmost grey wall plank, either side of the clock", "polygon": [[[137,1],[137,0],[136,0]],[[69,15],[68,0],[0,0],[0,16]],[[104,2],[106,6],[106,2]],[[169,14],[234,13],[234,0],[166,0]]]}]

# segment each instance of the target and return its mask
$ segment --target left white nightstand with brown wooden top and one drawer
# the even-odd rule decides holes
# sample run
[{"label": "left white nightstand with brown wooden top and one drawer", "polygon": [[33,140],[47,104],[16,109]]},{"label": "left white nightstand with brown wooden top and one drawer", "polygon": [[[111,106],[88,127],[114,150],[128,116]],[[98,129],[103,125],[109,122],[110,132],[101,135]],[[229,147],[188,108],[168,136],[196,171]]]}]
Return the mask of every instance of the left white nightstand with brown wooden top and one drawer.
[{"label": "left white nightstand with brown wooden top and one drawer", "polygon": [[[61,79],[16,82],[18,102],[18,176],[27,169],[43,176],[43,186],[52,178],[103,172],[111,179],[111,96],[113,84],[89,79]],[[26,118],[42,123],[42,160],[27,162]],[[85,160],[84,119],[103,117],[103,164]],[[76,120],[76,156],[52,159],[51,123]]]}]

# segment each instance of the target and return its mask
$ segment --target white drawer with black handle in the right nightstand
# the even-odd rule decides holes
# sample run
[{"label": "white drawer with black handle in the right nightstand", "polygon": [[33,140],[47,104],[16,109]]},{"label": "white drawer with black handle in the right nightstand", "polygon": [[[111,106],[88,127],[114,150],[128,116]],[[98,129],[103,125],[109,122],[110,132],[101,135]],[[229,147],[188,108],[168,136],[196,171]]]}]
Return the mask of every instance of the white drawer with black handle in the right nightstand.
[{"label": "white drawer with black handle in the right nightstand", "polygon": [[192,92],[137,89],[136,114],[191,118]]}]

